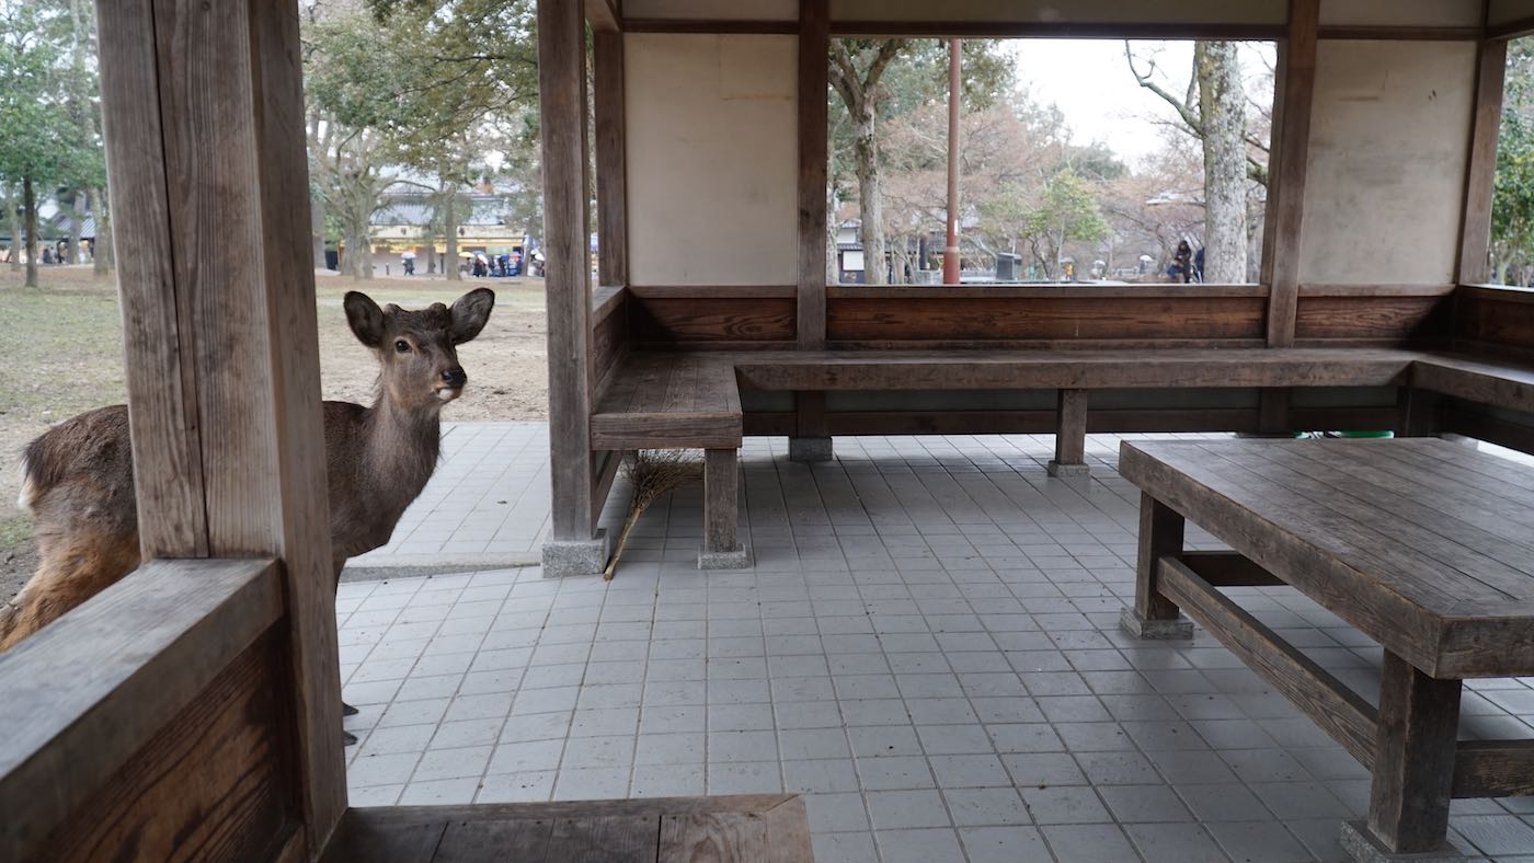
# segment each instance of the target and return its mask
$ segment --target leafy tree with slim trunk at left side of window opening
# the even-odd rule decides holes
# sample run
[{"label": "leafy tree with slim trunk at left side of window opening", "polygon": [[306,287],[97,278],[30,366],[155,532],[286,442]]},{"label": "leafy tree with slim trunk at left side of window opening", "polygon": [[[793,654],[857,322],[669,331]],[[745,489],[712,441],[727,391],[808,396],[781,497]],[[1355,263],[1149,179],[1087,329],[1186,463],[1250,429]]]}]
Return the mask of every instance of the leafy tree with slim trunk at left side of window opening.
[{"label": "leafy tree with slim trunk at left side of window opening", "polygon": [[[988,107],[1012,81],[1012,61],[994,41],[965,41],[963,98],[969,107]],[[948,86],[946,43],[940,40],[831,40],[830,84],[841,97],[847,123],[841,124],[851,150],[858,182],[858,215],[865,277],[885,284],[884,192],[879,172],[879,124],[894,113],[914,110],[939,98]],[[893,84],[885,86],[885,78]],[[833,113],[833,129],[838,113]],[[834,161],[834,159],[833,159]],[[828,172],[836,198],[838,172]],[[831,245],[834,248],[834,244]]]}]

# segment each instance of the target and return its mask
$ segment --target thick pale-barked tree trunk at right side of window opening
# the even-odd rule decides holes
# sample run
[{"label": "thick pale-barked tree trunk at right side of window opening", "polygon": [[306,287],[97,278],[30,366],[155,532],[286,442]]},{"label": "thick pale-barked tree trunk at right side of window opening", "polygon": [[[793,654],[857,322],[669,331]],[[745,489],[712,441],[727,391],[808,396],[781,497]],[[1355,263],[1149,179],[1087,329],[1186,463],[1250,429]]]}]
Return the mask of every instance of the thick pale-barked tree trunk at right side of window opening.
[{"label": "thick pale-barked tree trunk at right side of window opening", "polygon": [[1204,279],[1244,282],[1247,279],[1249,179],[1267,182],[1267,146],[1247,126],[1246,81],[1241,74],[1238,43],[1193,43],[1193,69],[1187,89],[1174,95],[1157,80],[1152,57],[1141,71],[1131,43],[1124,58],[1135,81],[1172,106],[1183,130],[1197,138],[1204,161]]}]

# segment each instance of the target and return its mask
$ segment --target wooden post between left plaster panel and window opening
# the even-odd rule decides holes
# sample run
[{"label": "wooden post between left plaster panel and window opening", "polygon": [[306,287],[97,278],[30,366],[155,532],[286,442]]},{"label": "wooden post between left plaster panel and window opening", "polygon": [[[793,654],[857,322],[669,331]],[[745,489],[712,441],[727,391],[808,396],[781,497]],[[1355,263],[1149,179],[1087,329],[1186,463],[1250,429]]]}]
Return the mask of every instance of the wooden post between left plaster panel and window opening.
[{"label": "wooden post between left plaster panel and window opening", "polygon": [[830,0],[799,0],[799,299],[801,349],[825,346],[825,159]]}]

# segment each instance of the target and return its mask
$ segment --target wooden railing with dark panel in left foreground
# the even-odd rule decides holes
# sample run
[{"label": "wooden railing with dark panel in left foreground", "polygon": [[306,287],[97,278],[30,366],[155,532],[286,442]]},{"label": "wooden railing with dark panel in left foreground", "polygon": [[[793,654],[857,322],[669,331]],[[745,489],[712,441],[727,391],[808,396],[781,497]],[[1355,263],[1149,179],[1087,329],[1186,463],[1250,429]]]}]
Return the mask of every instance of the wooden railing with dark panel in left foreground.
[{"label": "wooden railing with dark panel in left foreground", "polygon": [[282,615],[272,559],[150,561],[0,655],[0,860],[301,846]]}]

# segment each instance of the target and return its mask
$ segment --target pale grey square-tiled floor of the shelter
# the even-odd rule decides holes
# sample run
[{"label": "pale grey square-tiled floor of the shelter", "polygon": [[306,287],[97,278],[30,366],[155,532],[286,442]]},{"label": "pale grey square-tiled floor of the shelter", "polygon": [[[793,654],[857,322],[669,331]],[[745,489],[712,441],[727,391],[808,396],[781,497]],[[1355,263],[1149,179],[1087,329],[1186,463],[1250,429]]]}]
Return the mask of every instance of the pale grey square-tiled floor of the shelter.
[{"label": "pale grey square-tiled floor of the shelter", "polygon": [[[535,552],[546,432],[472,429],[442,474],[472,489],[394,553],[457,553],[471,524]],[[788,789],[822,863],[1342,858],[1367,774],[1203,632],[1120,635],[1137,492],[1117,438],[1089,441],[1089,481],[1048,480],[1051,446],[838,438],[811,469],[752,440],[746,572],[695,569],[689,491],[612,582],[344,584],[353,803]],[[1373,697],[1379,651],[1351,628],[1289,590],[1243,604]],[[1467,734],[1534,736],[1520,681],[1471,684],[1463,713]],[[1534,799],[1456,802],[1453,838],[1534,860]]]}]

